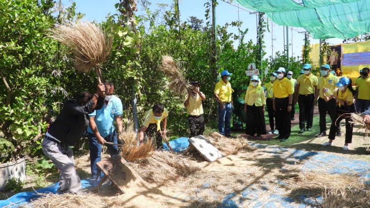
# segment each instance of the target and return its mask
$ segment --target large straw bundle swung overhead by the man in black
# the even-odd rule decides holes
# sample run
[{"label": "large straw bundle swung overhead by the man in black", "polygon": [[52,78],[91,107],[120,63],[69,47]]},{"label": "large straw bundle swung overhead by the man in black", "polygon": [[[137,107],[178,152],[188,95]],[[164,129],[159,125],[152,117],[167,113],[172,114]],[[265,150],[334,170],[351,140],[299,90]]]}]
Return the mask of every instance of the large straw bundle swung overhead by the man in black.
[{"label": "large straw bundle swung overhead by the man in black", "polygon": [[102,82],[99,68],[111,51],[112,37],[89,21],[57,25],[51,32],[51,37],[71,48],[78,71],[90,72],[95,68],[98,81]]}]

